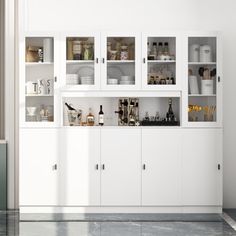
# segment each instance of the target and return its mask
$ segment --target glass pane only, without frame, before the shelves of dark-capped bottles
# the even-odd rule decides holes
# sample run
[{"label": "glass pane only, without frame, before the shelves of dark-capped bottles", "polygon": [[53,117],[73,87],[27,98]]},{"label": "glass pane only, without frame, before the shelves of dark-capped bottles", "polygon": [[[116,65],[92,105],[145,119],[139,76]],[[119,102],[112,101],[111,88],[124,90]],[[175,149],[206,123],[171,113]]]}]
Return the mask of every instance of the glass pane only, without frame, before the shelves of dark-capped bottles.
[{"label": "glass pane only, without frame, before the shelves of dark-capped bottles", "polygon": [[148,37],[147,59],[147,84],[176,84],[175,37]]}]

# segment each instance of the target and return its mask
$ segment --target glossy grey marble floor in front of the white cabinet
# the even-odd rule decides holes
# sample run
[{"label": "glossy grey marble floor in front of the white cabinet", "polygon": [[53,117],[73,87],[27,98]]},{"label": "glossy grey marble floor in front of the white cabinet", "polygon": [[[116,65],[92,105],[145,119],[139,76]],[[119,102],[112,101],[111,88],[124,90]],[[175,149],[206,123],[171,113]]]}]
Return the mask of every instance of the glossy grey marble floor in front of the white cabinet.
[{"label": "glossy grey marble floor in front of the white cabinet", "polygon": [[86,216],[83,221],[19,222],[17,212],[0,212],[0,236],[236,236],[236,231],[219,216],[182,216],[176,215],[177,221],[167,215],[163,217],[166,221],[158,221],[161,215],[145,214],[129,215],[129,218],[127,215]]}]

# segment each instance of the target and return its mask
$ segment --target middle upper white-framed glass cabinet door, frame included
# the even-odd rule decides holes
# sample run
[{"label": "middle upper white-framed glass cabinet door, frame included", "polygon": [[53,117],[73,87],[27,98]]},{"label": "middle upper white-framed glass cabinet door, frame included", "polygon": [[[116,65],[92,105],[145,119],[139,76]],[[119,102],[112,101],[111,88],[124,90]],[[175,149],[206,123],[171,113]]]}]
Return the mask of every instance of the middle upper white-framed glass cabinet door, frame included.
[{"label": "middle upper white-framed glass cabinet door, frame included", "polygon": [[107,33],[102,35],[102,88],[133,90],[140,88],[140,35]]}]

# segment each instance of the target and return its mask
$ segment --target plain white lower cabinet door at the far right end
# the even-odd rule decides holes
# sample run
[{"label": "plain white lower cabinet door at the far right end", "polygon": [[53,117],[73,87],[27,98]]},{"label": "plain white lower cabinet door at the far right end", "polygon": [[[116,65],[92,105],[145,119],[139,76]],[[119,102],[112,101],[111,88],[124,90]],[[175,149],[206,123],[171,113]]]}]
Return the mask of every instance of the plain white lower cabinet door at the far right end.
[{"label": "plain white lower cabinet door at the far right end", "polygon": [[183,205],[222,204],[221,158],[221,129],[183,130]]}]

